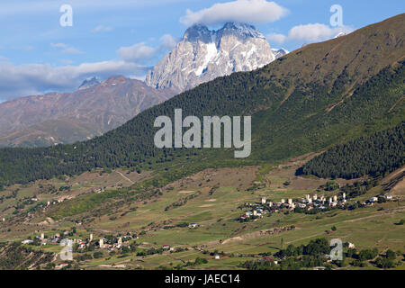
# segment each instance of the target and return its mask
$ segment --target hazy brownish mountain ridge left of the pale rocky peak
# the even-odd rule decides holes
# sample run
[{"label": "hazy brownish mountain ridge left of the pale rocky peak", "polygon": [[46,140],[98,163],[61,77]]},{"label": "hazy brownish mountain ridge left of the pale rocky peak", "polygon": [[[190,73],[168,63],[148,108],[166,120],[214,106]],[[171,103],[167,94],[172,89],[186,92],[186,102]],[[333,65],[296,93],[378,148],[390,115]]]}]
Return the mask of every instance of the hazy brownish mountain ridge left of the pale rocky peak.
[{"label": "hazy brownish mountain ridge left of the pale rocky peak", "polygon": [[49,93],[0,103],[0,146],[38,147],[102,135],[175,93],[139,80],[86,79],[73,93]]}]

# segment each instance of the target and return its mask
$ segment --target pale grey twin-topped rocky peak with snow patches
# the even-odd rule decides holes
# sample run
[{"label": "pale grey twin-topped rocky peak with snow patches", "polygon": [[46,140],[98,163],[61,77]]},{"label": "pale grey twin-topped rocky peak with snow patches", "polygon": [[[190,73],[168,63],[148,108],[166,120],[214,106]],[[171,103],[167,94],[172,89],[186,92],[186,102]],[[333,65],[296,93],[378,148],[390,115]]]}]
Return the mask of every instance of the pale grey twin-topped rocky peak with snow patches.
[{"label": "pale grey twin-topped rocky peak with snow patches", "polygon": [[[276,51],[277,56],[284,56]],[[252,25],[226,23],[220,30],[210,31],[196,24],[148,71],[146,83],[183,92],[219,76],[263,67],[275,58],[266,38]]]}]

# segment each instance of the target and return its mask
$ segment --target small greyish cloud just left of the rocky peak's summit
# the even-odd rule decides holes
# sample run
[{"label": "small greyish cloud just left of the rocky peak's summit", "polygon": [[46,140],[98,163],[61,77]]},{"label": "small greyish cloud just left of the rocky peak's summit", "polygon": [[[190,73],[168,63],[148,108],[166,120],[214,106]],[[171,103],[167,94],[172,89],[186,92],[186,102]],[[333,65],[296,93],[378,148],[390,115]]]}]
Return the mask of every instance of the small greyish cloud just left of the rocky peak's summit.
[{"label": "small greyish cloud just left of the rocky peak's summit", "polygon": [[158,54],[173,49],[177,40],[170,34],[165,34],[160,38],[161,44],[157,47],[150,47],[145,42],[133,44],[129,47],[118,49],[118,55],[125,61],[146,61],[155,58]]}]

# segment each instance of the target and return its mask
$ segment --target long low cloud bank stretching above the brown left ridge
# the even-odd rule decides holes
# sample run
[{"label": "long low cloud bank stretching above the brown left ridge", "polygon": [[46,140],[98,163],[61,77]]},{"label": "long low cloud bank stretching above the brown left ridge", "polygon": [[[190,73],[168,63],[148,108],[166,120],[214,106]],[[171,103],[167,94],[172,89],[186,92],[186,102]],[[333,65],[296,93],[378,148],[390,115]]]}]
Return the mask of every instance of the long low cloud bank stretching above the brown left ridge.
[{"label": "long low cloud bank stretching above the brown left ridge", "polygon": [[106,78],[113,75],[144,76],[149,67],[125,61],[83,63],[55,67],[49,64],[0,65],[0,99],[43,94],[44,91],[74,91],[88,76]]}]

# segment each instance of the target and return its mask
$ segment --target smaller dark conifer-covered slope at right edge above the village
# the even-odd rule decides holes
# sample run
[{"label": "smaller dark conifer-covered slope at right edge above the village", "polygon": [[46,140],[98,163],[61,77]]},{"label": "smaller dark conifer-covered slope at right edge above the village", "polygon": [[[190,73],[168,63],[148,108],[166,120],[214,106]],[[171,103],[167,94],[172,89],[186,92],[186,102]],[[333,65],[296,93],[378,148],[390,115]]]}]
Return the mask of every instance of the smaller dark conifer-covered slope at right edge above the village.
[{"label": "smaller dark conifer-covered slope at right edge above the village", "polygon": [[395,128],[329,148],[297,171],[319,177],[352,179],[386,175],[405,165],[405,121]]}]

